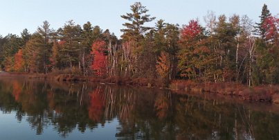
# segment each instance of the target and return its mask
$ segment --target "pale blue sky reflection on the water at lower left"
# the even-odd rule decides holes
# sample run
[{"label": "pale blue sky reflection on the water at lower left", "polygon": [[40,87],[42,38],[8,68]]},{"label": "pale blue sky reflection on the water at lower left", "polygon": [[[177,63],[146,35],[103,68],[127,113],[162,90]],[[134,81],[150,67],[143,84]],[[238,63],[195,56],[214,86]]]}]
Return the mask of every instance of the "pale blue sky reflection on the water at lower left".
[{"label": "pale blue sky reflection on the water at lower left", "polygon": [[[8,114],[0,114],[0,138],[9,140],[30,140],[30,139],[115,139],[116,128],[119,127],[118,119],[107,121],[103,126],[98,124],[93,130],[80,132],[75,128],[73,132],[61,137],[53,125],[49,125],[44,129],[42,134],[35,134],[36,130],[30,128],[27,121],[17,121],[16,112]],[[56,134],[55,134],[56,133]]]}]

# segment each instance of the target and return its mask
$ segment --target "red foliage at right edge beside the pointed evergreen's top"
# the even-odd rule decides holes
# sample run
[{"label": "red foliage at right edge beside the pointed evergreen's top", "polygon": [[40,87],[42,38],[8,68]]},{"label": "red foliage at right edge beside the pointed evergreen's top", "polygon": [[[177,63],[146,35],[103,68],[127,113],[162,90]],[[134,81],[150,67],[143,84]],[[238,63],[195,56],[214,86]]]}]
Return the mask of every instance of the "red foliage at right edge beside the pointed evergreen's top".
[{"label": "red foliage at right edge beside the pointed evergreen's top", "polygon": [[264,19],[264,24],[262,24],[264,30],[266,30],[265,37],[266,40],[274,40],[279,31],[279,19],[278,17],[269,16]]}]

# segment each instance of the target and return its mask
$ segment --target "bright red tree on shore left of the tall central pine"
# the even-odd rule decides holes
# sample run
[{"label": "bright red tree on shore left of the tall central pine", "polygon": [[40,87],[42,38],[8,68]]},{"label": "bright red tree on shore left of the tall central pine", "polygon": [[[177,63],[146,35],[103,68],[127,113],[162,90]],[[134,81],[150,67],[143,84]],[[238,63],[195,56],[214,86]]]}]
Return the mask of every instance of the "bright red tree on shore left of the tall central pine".
[{"label": "bright red tree on shore left of the tall central pine", "polygon": [[97,40],[92,44],[93,61],[91,68],[95,71],[97,76],[103,76],[107,73],[107,56],[105,55],[105,41]]}]

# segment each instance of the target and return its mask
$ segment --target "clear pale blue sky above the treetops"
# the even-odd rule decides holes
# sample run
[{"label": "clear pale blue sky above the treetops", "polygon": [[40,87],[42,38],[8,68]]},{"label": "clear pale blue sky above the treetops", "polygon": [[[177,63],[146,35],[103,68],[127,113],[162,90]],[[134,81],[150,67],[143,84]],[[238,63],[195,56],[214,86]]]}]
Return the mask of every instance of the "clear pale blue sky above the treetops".
[{"label": "clear pale blue sky above the treetops", "polygon": [[[125,22],[120,15],[130,12],[134,0],[1,0],[0,35],[8,33],[20,35],[24,28],[35,32],[42,21],[47,20],[51,28],[64,26],[73,19],[81,26],[90,21],[93,26],[109,29],[120,36],[120,28]],[[171,24],[187,24],[190,19],[199,18],[201,24],[208,10],[216,15],[248,15],[253,21],[258,16],[264,3],[273,15],[279,13],[279,0],[141,0],[152,17],[165,19]],[[154,24],[150,24],[154,26]]]}]

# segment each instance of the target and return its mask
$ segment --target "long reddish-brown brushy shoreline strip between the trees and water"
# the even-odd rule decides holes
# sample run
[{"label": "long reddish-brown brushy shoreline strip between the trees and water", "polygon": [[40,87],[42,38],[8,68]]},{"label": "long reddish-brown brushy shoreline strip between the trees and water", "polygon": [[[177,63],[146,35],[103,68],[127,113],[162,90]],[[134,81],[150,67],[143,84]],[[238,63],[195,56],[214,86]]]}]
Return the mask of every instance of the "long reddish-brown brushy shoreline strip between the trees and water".
[{"label": "long reddish-brown brushy shoreline strip between the trees and water", "polygon": [[[73,74],[60,74],[53,76],[42,73],[6,73],[1,72],[0,77],[25,77],[29,79],[55,80],[58,82],[99,82],[102,84],[128,85],[134,87],[147,87],[163,89],[163,83],[146,78],[94,78],[77,76]],[[279,104],[279,85],[261,85],[248,87],[236,82],[193,82],[190,80],[172,80],[170,87],[165,88],[177,94],[210,93],[222,96],[232,96],[239,100]]]}]

